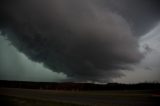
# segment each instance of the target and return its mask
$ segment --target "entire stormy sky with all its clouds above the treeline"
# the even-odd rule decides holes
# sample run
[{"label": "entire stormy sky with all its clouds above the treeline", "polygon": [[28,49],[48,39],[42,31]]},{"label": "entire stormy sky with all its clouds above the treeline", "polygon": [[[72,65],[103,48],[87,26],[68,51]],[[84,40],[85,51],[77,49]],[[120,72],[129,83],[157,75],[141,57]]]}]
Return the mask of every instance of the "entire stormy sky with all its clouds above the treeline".
[{"label": "entire stormy sky with all its clouds above the treeline", "polygon": [[160,81],[158,0],[1,0],[0,7],[1,79]]}]

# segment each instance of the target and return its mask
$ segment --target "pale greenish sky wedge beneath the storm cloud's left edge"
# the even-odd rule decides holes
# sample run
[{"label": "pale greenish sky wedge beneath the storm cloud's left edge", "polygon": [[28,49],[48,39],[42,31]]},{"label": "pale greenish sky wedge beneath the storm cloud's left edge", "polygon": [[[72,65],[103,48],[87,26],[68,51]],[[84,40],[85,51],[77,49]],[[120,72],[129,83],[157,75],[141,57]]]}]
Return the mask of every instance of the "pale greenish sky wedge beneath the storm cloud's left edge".
[{"label": "pale greenish sky wedge beneath the storm cloud's left edge", "polygon": [[5,37],[0,36],[0,80],[64,81],[66,75],[44,68],[42,63],[29,60]]}]

